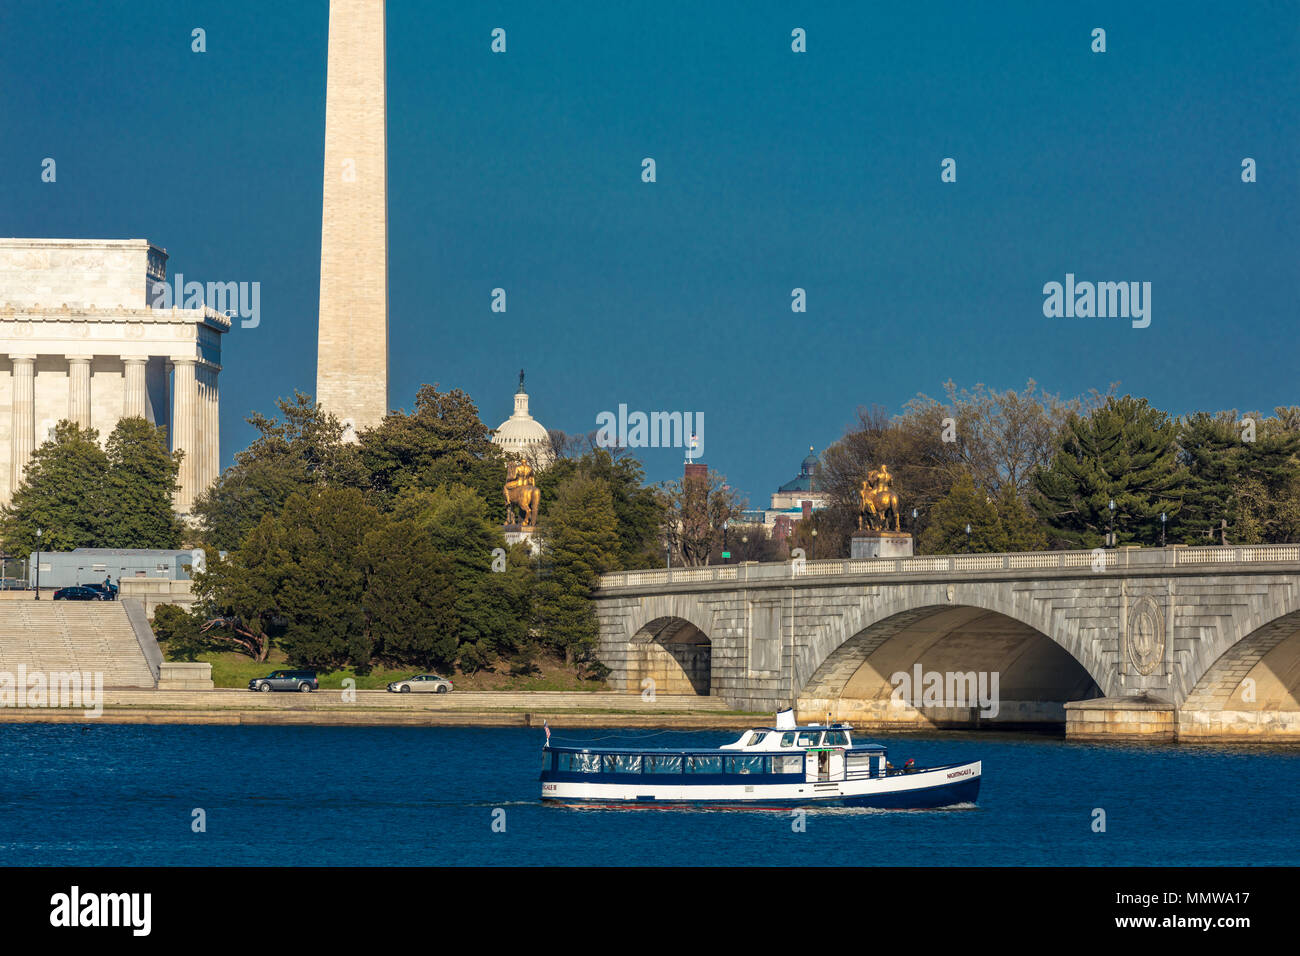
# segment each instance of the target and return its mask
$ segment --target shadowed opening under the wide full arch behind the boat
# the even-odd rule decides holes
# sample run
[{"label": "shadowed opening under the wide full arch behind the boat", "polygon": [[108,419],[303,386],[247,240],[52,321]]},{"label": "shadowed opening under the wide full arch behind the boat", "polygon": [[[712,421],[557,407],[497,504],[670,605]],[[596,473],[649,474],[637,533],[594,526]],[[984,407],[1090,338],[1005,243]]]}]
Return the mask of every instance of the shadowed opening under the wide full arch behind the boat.
[{"label": "shadowed opening under the wide full arch behind the boat", "polygon": [[859,727],[1063,727],[1066,702],[1101,696],[1041,631],[945,605],[896,614],[846,640],[805,684],[798,710]]}]

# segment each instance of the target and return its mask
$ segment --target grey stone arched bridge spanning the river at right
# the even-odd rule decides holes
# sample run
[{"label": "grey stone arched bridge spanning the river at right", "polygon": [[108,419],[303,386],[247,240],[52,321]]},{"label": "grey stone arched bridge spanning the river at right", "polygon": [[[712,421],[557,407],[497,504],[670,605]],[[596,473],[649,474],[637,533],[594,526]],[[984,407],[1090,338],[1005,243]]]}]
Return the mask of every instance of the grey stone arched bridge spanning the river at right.
[{"label": "grey stone arched bridge spanning the river at right", "polygon": [[[876,728],[1300,740],[1300,545],[624,571],[594,601],[608,682],[630,693]],[[949,693],[993,678],[996,714],[893,700],[897,674]]]}]

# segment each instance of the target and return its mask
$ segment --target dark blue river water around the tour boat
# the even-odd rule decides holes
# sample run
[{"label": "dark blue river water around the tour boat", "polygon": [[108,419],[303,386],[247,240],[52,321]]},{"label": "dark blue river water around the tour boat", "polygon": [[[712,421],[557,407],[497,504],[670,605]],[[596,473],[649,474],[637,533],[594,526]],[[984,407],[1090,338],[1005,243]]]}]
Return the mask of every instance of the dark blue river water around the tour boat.
[{"label": "dark blue river water around the tour boat", "polygon": [[[564,732],[710,747],[729,734]],[[523,728],[0,726],[0,864],[1295,865],[1300,750],[887,740],[980,758],[978,809],[569,810]],[[195,808],[207,832],[192,832]],[[494,832],[494,809],[504,832]],[[1106,832],[1093,832],[1093,810]],[[499,814],[498,814],[499,818]]]}]

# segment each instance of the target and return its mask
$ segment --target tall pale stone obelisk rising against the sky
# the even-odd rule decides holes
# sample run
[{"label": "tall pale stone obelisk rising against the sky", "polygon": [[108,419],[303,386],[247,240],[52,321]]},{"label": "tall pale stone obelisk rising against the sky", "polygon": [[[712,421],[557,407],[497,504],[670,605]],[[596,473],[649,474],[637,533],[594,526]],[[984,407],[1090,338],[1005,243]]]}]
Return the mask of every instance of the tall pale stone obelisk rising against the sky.
[{"label": "tall pale stone obelisk rising against the sky", "polygon": [[316,401],[350,437],[389,407],[385,0],[330,0]]}]

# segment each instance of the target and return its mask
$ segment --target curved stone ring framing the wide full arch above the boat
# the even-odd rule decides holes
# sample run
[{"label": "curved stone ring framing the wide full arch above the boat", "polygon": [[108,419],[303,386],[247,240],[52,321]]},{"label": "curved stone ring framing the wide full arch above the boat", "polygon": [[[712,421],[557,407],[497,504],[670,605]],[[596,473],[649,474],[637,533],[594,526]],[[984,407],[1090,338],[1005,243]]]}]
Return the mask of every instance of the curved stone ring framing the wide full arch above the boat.
[{"label": "curved stone ring framing the wide full arch above the boat", "polygon": [[[801,696],[820,696],[846,682],[864,656],[874,653],[906,628],[957,607],[996,613],[1030,628],[1060,646],[1087,672],[1102,696],[1117,692],[1118,674],[1102,659],[1096,644],[1086,639],[1078,623],[1053,615],[1049,601],[1034,600],[1032,591],[1013,589],[1008,581],[980,584],[935,584],[881,589],[844,614],[827,622],[798,649],[796,687]],[[842,683],[838,687],[842,689]]]}]

